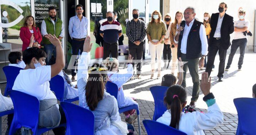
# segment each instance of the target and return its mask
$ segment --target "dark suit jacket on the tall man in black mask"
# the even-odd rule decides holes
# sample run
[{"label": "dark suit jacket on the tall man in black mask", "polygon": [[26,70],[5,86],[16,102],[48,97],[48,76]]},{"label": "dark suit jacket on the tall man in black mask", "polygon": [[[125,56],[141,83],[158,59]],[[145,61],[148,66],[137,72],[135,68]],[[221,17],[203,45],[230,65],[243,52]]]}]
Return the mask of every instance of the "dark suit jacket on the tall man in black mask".
[{"label": "dark suit jacket on the tall man in black mask", "polygon": [[[234,22],[233,17],[226,14],[223,16],[222,26],[220,28],[220,35],[221,35],[221,46],[223,49],[228,49],[231,45],[230,43],[230,35],[234,32]],[[210,27],[212,28],[210,32],[209,38],[209,47],[212,46],[213,36],[216,31],[217,23],[218,23],[219,13],[213,13],[210,19]]]}]

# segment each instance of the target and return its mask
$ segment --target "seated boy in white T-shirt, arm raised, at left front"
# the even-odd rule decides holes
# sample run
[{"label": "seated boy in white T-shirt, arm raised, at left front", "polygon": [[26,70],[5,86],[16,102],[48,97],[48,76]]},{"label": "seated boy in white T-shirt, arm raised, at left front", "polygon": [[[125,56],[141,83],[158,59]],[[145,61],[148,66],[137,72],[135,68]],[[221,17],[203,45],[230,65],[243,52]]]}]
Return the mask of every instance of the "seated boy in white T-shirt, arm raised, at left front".
[{"label": "seated boy in white T-shirt, arm raised, at left front", "polygon": [[[28,48],[23,52],[23,60],[26,64],[24,70],[16,77],[12,90],[21,91],[35,96],[40,102],[39,127],[55,128],[64,123],[65,115],[57,104],[57,98],[50,90],[49,81],[62,71],[65,66],[64,53],[57,37],[48,34],[46,38],[56,47],[56,63],[45,66],[46,53],[37,48]],[[60,109],[60,110],[59,110]],[[54,134],[65,134],[65,128],[56,128]]]}]

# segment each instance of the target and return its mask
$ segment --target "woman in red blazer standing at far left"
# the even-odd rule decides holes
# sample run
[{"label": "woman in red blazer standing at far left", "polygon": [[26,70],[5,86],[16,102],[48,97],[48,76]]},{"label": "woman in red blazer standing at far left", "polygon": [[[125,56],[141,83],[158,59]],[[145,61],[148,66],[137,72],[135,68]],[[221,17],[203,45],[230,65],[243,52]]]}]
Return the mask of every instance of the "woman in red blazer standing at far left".
[{"label": "woman in red blazer standing at far left", "polygon": [[23,27],[20,29],[20,38],[23,42],[22,52],[28,47],[38,47],[41,48],[42,35],[33,16],[27,16],[23,23]]}]

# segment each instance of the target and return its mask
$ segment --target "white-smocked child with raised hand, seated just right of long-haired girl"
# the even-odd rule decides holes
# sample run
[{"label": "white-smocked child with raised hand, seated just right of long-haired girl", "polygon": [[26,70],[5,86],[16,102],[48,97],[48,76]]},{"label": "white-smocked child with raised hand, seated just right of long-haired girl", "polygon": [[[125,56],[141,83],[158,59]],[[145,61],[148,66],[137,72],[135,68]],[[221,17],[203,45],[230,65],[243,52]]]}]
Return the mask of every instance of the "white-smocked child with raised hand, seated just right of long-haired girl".
[{"label": "white-smocked child with raised hand, seated just right of long-haired girl", "polygon": [[[138,104],[134,98],[124,96],[123,85],[133,76],[132,56],[128,55],[128,68],[126,74],[120,74],[118,71],[119,62],[116,58],[106,58],[103,64],[108,68],[108,80],[118,86],[117,103],[118,108],[127,107],[130,105]],[[137,118],[135,109],[124,112],[126,115],[126,122],[132,124]]]}]

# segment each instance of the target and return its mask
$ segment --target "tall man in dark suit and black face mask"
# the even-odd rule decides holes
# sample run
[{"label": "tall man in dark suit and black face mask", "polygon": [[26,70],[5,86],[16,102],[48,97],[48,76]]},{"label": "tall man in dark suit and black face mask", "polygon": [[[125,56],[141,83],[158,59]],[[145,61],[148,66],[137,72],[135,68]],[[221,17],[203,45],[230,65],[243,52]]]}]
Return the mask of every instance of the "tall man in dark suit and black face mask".
[{"label": "tall man in dark suit and black face mask", "polygon": [[228,6],[222,2],[219,4],[219,13],[213,13],[210,19],[212,31],[209,38],[209,54],[206,66],[206,72],[209,76],[212,71],[215,56],[219,51],[219,82],[222,82],[226,52],[230,46],[230,35],[234,32],[233,17],[226,14]]}]

